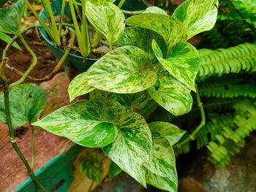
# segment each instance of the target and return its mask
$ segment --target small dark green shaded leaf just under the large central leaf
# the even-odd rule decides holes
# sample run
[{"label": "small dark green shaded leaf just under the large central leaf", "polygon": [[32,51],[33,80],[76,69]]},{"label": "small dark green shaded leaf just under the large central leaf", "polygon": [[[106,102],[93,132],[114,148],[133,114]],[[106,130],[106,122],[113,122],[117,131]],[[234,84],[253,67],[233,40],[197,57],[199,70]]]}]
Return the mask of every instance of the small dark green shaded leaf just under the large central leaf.
[{"label": "small dark green shaded leaf just under the large central leaf", "polygon": [[116,98],[120,104],[126,107],[135,107],[136,109],[142,109],[151,100],[148,91],[141,91],[138,93],[130,94],[117,94]]}]

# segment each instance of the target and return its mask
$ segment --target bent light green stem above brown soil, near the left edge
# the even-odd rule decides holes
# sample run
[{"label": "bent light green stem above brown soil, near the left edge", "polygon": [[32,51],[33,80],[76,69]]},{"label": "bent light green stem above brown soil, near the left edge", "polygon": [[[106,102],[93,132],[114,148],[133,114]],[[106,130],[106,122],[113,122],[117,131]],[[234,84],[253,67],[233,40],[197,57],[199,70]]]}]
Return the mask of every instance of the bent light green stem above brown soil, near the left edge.
[{"label": "bent light green stem above brown soil, near the left edge", "polygon": [[22,77],[20,77],[20,80],[13,82],[10,86],[9,86],[9,90],[11,90],[11,88],[19,85],[21,82],[23,82],[26,77],[29,75],[29,73],[31,72],[31,70],[34,68],[34,66],[37,65],[37,56],[34,54],[33,50],[31,50],[31,48],[29,47],[29,45],[26,43],[25,39],[23,39],[22,35],[19,35],[21,42],[23,43],[23,45],[26,47],[26,49],[29,51],[29,53],[32,55],[33,57],[33,63],[31,64],[31,66],[29,66],[29,69],[23,74]]}]

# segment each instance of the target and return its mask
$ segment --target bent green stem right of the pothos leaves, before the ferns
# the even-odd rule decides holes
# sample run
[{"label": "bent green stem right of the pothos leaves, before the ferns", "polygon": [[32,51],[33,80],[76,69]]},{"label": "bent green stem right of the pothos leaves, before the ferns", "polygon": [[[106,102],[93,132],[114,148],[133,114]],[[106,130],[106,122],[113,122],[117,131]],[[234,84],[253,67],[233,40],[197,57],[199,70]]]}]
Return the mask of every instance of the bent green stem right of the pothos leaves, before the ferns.
[{"label": "bent green stem right of the pothos leaves, before the ferns", "polygon": [[205,115],[205,111],[203,110],[203,103],[200,100],[200,94],[198,92],[198,88],[197,85],[195,85],[195,90],[196,92],[196,97],[197,97],[197,105],[200,109],[200,114],[201,114],[201,123],[199,124],[199,126],[197,126],[197,128],[195,128],[195,131],[192,131],[192,134],[189,135],[189,137],[187,137],[187,139],[184,139],[182,142],[179,142],[177,144],[177,146],[182,146],[184,144],[186,144],[187,142],[189,142],[191,139],[194,140],[195,135],[197,134],[198,131],[200,131],[200,129],[206,125],[206,115]]}]

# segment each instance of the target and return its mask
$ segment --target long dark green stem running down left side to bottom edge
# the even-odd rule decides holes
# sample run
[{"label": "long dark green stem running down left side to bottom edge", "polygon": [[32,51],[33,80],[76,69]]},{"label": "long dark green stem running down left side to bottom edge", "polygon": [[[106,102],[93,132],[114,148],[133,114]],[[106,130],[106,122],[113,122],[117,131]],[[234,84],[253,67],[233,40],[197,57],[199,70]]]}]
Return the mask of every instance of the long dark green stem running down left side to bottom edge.
[{"label": "long dark green stem running down left side to bottom edge", "polygon": [[28,173],[31,176],[32,180],[34,180],[34,182],[37,183],[37,185],[40,188],[42,188],[42,191],[47,192],[47,189],[42,185],[42,183],[39,182],[37,177],[34,175],[31,167],[29,166],[28,161],[26,161],[26,158],[21,153],[21,151],[20,151],[20,149],[19,149],[19,147],[16,143],[14,131],[13,131],[13,128],[12,128],[11,115],[10,115],[10,101],[9,101],[9,91],[8,90],[9,89],[7,87],[4,89],[4,107],[5,107],[5,112],[6,112],[6,116],[7,116],[7,125],[9,127],[10,140],[11,140],[11,143],[12,143],[12,147],[14,148],[16,153],[19,155],[20,159],[23,161],[23,164],[26,166],[26,169],[28,170]]}]

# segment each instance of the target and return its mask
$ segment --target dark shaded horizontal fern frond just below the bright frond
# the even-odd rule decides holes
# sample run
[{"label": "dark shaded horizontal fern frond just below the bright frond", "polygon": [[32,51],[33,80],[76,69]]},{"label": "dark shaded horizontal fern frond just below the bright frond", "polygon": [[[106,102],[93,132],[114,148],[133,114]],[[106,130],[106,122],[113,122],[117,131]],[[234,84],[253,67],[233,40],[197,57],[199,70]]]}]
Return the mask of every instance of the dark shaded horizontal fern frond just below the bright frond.
[{"label": "dark shaded horizontal fern frond just below the bright frond", "polygon": [[230,82],[225,81],[206,81],[198,85],[200,96],[217,98],[234,98],[238,96],[256,98],[256,85],[236,84],[230,78]]}]

